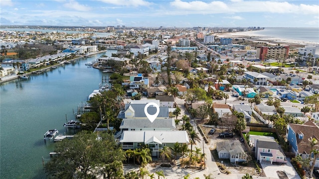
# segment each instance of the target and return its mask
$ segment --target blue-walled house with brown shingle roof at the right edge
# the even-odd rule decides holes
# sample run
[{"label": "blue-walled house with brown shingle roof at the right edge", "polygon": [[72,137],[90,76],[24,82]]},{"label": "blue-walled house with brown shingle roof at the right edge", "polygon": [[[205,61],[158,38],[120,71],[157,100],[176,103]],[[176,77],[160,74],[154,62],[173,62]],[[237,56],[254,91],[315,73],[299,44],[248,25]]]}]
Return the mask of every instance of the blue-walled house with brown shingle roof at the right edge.
[{"label": "blue-walled house with brown shingle roof at the right edge", "polygon": [[[304,124],[288,124],[286,138],[292,146],[292,152],[303,158],[308,158],[311,153],[310,141],[312,138],[319,136],[319,128],[316,124],[309,120]],[[318,149],[318,147],[317,147]],[[319,159],[317,158],[315,167],[319,167]]]}]

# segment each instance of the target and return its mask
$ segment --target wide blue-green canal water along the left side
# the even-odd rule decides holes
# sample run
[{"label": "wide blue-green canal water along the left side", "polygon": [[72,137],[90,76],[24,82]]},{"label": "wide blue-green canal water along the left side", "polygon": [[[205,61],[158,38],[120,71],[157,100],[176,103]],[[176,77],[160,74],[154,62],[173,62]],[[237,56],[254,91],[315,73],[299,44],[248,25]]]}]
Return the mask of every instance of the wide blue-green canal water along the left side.
[{"label": "wide blue-green canal water along the left side", "polygon": [[[30,80],[13,80],[0,84],[0,178],[43,179],[42,165],[50,160],[54,143],[44,143],[49,129],[66,132],[64,122],[74,119],[80,103],[99,88],[102,73],[86,63],[101,55],[111,56],[116,50],[80,58]],[[73,131],[68,131],[73,132]]]}]

